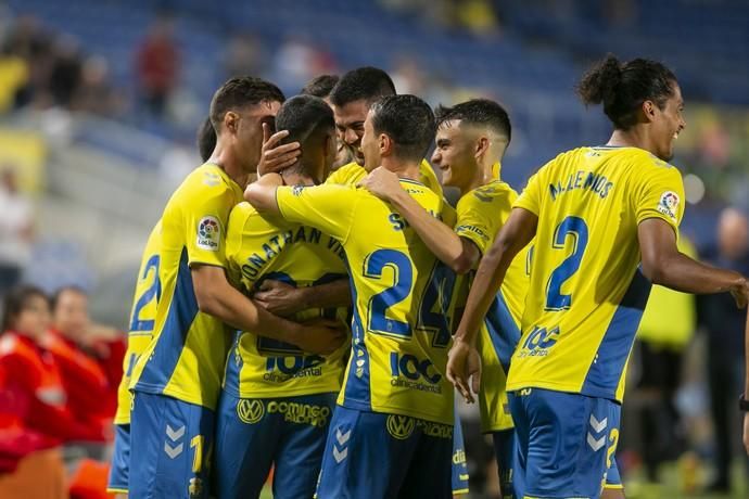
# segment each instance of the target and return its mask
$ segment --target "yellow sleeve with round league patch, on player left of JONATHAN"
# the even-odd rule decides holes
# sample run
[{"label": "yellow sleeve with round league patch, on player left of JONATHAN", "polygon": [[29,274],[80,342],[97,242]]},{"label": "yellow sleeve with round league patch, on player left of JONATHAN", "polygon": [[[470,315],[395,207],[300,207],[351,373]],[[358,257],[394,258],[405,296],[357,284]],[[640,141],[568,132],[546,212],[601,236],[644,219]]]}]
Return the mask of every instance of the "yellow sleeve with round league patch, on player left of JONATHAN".
[{"label": "yellow sleeve with round league patch, on player left of JONATHAN", "polygon": [[181,210],[188,263],[226,267],[226,227],[236,196],[224,183],[202,183],[186,193]]}]

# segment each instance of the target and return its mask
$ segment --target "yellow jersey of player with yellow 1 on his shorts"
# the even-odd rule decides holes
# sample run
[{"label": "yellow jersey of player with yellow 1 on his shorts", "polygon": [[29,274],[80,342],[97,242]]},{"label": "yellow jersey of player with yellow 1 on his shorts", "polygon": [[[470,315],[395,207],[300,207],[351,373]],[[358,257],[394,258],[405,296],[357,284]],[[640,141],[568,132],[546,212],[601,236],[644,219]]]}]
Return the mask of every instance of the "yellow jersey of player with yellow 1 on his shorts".
[{"label": "yellow jersey of player with yellow 1 on his shorts", "polygon": [[230,338],[219,319],[198,309],[190,267],[226,267],[229,212],[242,194],[221,168],[206,163],[167,202],[158,268],[162,296],[153,338],[136,363],[130,389],[216,408]]}]

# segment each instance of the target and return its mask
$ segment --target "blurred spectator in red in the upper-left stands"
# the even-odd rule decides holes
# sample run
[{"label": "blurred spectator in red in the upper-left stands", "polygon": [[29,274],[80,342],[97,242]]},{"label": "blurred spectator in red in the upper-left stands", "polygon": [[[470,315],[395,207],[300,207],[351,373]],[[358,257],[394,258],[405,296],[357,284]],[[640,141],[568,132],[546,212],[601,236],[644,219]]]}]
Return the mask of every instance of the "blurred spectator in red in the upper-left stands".
[{"label": "blurred spectator in red in the upper-left stands", "polygon": [[143,102],[153,115],[163,117],[180,72],[180,55],[170,17],[161,16],[151,26],[138,49],[137,67]]}]

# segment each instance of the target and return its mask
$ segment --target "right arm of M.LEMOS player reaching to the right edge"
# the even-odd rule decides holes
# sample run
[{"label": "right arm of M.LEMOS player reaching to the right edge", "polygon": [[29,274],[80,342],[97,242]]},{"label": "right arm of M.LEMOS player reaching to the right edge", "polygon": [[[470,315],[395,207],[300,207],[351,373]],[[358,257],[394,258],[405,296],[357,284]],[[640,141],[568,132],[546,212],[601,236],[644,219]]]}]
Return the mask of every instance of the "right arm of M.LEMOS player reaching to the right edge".
[{"label": "right arm of M.LEMOS player reaching to the right edge", "polygon": [[693,260],[676,247],[676,233],[660,218],[648,218],[637,226],[643,273],[653,284],[683,293],[731,292],[739,307],[749,298],[749,282],[738,272]]}]

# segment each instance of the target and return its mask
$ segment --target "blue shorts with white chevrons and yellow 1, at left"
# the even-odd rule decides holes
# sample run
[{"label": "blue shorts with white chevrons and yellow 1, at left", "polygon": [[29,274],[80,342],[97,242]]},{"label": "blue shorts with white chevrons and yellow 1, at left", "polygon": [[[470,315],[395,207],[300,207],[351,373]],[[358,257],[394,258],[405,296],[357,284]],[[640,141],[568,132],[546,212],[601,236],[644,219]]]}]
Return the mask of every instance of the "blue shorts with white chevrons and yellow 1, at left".
[{"label": "blue shorts with white chevrons and yellow 1, at left", "polygon": [[165,395],[136,392],[130,412],[129,497],[210,496],[214,412]]}]

